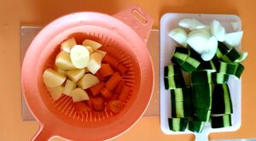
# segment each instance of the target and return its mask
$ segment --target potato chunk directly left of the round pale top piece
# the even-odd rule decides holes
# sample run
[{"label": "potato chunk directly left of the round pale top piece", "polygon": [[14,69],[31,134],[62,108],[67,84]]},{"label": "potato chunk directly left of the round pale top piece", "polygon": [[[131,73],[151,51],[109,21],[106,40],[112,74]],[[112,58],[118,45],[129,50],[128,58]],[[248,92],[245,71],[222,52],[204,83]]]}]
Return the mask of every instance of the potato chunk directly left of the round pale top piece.
[{"label": "potato chunk directly left of the round pale top piece", "polygon": [[72,64],[70,59],[70,54],[64,51],[61,51],[55,59],[55,65],[62,70],[73,70],[76,67]]}]

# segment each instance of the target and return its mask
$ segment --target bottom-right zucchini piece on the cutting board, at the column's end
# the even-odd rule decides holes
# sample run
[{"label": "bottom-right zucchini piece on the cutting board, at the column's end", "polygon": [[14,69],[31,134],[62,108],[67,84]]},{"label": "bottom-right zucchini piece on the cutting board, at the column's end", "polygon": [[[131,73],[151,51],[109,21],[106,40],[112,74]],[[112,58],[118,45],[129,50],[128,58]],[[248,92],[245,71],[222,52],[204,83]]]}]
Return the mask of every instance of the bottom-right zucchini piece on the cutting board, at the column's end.
[{"label": "bottom-right zucchini piece on the cutting board, at the column's end", "polygon": [[212,128],[220,128],[220,127],[231,127],[231,116],[230,114],[226,114],[223,116],[212,116]]}]

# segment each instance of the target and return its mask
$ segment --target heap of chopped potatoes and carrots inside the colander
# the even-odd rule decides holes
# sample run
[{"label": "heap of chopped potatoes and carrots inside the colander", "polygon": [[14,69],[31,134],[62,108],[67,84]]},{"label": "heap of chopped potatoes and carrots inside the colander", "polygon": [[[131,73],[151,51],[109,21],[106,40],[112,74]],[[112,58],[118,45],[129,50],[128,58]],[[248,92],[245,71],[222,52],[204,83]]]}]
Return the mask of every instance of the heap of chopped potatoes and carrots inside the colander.
[{"label": "heap of chopped potatoes and carrots inside the colander", "polygon": [[61,42],[55,66],[43,74],[53,100],[72,97],[78,113],[108,110],[117,114],[123,109],[131,88],[122,76],[129,68],[101,47],[101,43],[88,39],[79,45],[74,37]]}]

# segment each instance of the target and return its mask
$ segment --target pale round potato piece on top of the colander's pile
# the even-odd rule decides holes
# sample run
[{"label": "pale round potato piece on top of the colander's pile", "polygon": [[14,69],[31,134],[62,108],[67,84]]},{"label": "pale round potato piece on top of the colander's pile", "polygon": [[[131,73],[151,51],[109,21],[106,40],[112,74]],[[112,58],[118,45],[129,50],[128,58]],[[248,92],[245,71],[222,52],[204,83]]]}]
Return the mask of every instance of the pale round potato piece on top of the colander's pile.
[{"label": "pale round potato piece on top of the colander's pile", "polygon": [[71,48],[70,59],[76,68],[84,69],[89,63],[90,52],[84,46],[75,45]]}]

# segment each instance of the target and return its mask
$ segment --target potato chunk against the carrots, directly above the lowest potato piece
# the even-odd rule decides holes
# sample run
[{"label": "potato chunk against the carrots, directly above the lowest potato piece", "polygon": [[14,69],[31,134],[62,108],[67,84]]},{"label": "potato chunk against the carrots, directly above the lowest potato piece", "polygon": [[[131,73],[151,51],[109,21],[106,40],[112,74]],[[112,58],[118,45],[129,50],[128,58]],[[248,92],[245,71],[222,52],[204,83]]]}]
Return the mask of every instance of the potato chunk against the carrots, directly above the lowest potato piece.
[{"label": "potato chunk against the carrots, directly above the lowest potato piece", "polygon": [[82,89],[92,87],[99,83],[99,79],[92,74],[85,74],[77,83]]}]

